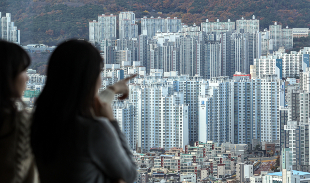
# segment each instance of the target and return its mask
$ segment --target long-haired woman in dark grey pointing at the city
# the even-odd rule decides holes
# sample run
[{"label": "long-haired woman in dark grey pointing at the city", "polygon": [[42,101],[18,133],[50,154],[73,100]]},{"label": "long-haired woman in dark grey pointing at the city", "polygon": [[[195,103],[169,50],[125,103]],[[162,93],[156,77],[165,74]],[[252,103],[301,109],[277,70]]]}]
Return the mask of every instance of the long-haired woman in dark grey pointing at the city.
[{"label": "long-haired woman in dark grey pointing at the city", "polygon": [[[125,137],[109,104],[98,99],[102,67],[99,52],[85,41],[65,42],[51,55],[31,133],[41,183],[134,182],[136,166]],[[101,98],[125,98],[128,79]]]}]

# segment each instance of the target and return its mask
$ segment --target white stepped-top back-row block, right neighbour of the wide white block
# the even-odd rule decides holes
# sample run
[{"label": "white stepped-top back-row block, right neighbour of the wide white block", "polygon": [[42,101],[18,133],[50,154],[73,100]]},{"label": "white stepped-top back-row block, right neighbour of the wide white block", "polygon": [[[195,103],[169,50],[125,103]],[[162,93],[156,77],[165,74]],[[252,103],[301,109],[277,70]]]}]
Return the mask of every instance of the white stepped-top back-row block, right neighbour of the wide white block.
[{"label": "white stepped-top back-row block, right neighbour of the wide white block", "polygon": [[260,21],[255,19],[255,15],[252,16],[251,20],[246,20],[244,17],[241,17],[241,20],[237,20],[237,33],[240,32],[240,29],[244,29],[244,32],[259,32],[260,31]]}]

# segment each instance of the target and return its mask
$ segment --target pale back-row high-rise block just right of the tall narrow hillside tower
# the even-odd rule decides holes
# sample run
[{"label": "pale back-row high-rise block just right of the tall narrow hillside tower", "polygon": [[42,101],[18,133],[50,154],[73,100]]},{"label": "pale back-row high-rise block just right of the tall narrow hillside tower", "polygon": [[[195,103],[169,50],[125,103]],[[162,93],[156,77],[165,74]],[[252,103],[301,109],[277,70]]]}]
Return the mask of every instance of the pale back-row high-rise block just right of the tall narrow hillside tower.
[{"label": "pale back-row high-rise block just right of the tall narrow hillside tower", "polygon": [[147,31],[147,38],[153,39],[156,32],[165,32],[165,19],[158,16],[157,18],[154,18],[154,16],[151,16],[150,18],[147,18],[144,16],[141,18],[141,32]]}]

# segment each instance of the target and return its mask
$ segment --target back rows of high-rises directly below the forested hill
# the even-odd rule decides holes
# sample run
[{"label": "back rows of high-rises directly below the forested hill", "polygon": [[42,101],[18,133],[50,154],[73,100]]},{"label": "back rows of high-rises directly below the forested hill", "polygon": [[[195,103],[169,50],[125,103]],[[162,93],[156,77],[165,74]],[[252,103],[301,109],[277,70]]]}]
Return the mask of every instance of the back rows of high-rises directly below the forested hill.
[{"label": "back rows of high-rises directly below the forested hill", "polygon": [[293,37],[309,33],[308,28],[282,28],[275,22],[269,31],[260,31],[254,15],[236,22],[207,19],[201,26],[185,25],[177,17],[144,16],[139,19],[138,35],[133,12],[118,16],[118,39],[117,15],[99,15],[98,21],[90,22],[90,41],[100,44],[106,64],[128,61],[133,65],[140,61],[147,74],[151,69],[161,69],[204,79],[251,71],[256,76],[277,74],[281,79],[299,76],[299,70],[309,67],[309,49],[285,52],[293,48]]}]

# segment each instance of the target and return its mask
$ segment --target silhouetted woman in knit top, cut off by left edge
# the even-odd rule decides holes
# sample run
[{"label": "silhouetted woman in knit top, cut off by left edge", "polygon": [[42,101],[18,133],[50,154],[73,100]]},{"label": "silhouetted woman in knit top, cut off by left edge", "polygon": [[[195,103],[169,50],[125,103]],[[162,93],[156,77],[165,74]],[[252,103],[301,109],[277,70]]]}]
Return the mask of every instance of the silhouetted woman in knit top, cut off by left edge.
[{"label": "silhouetted woman in knit top, cut off by left edge", "polygon": [[0,183],[35,183],[30,114],[16,102],[26,89],[30,58],[16,44],[0,41]]}]

